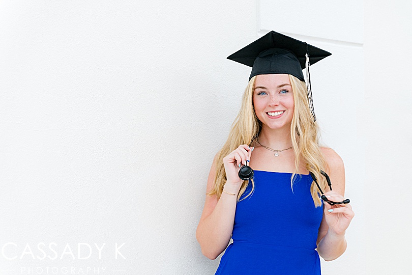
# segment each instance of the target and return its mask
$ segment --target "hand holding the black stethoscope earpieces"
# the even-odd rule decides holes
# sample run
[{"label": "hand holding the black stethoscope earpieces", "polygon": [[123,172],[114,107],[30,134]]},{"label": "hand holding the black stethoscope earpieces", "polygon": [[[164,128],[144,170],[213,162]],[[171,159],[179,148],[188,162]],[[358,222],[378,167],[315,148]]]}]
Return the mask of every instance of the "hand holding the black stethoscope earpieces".
[{"label": "hand holding the black stethoscope earpieces", "polygon": [[[333,202],[341,202],[345,199],[336,191],[329,191],[324,195]],[[330,205],[327,202],[323,202],[323,204],[325,205],[325,221],[329,226],[329,231],[332,230],[336,235],[344,234],[350,221],[355,216],[352,206],[350,204]],[[329,211],[331,209],[332,211]]]}]

